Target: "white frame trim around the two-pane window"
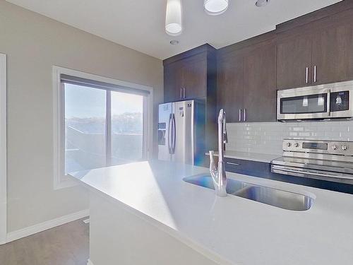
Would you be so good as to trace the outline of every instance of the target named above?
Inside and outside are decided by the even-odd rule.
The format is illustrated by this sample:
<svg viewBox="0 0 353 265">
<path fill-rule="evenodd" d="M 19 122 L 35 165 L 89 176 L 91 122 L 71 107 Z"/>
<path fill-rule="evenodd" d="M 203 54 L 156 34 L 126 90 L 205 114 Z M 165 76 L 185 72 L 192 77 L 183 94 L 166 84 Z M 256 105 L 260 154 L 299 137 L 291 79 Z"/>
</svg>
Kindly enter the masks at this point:
<svg viewBox="0 0 353 265">
<path fill-rule="evenodd" d="M 64 88 L 61 83 L 61 74 L 75 76 L 78 78 L 90 79 L 102 83 L 110 83 L 125 88 L 138 89 L 148 91 L 145 98 L 144 112 L 145 119 L 143 120 L 143 150 L 145 158 L 152 158 L 152 143 L 153 143 L 153 88 L 143 86 L 136 83 L 130 83 L 104 76 L 97 76 L 92 73 L 85 73 L 67 69 L 60 66 L 52 66 L 53 72 L 53 139 L 54 139 L 54 189 L 63 189 L 73 187 L 77 184 L 71 177 L 65 175 L 65 113 L 64 113 Z M 107 93 L 110 95 L 110 93 Z M 109 110 L 107 110 L 107 113 Z M 109 134 L 110 132 L 107 132 Z M 108 142 L 108 141 L 107 141 Z M 107 143 L 109 144 L 109 143 Z"/>
</svg>

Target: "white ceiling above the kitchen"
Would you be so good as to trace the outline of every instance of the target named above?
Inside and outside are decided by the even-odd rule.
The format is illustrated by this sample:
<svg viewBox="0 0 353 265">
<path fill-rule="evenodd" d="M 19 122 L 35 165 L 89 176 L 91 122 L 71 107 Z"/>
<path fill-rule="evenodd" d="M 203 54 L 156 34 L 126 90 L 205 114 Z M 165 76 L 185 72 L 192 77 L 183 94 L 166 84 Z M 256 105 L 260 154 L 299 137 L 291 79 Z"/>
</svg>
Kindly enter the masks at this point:
<svg viewBox="0 0 353 265">
<path fill-rule="evenodd" d="M 220 48 L 268 32 L 275 25 L 340 0 L 270 0 L 258 8 L 256 0 L 229 0 L 228 10 L 208 16 L 203 0 L 182 0 L 184 30 L 170 37 L 164 32 L 167 0 L 8 0 L 73 27 L 166 59 L 198 45 Z M 179 45 L 170 45 L 170 40 Z"/>
</svg>

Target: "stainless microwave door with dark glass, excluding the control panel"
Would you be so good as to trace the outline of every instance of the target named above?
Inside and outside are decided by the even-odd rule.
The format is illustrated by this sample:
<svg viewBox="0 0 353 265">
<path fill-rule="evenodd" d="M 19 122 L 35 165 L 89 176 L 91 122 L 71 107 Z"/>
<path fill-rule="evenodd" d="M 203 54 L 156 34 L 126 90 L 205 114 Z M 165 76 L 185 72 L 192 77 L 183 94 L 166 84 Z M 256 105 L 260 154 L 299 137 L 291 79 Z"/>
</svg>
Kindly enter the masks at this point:
<svg viewBox="0 0 353 265">
<path fill-rule="evenodd" d="M 330 89 L 294 88 L 277 92 L 277 119 L 330 118 Z"/>
</svg>

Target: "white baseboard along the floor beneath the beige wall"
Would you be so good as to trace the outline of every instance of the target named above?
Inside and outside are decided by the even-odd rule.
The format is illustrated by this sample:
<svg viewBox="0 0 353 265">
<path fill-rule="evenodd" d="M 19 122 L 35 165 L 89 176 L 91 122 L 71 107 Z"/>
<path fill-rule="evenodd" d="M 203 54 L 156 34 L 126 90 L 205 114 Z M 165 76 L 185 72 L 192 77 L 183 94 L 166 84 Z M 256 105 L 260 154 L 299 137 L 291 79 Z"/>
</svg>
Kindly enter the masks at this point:
<svg viewBox="0 0 353 265">
<path fill-rule="evenodd" d="M 74 220 L 78 220 L 89 215 L 90 211 L 87 209 L 83 211 L 78 211 L 76 213 L 68 214 L 67 216 L 61 216 L 53 220 L 48 220 L 43 223 L 38 223 L 37 225 L 31 225 L 27 228 L 22 228 L 20 230 L 9 232 L 6 237 L 6 242 L 19 240 L 22 237 L 28 237 L 29 235 L 36 234 L 37 232 L 42 232 L 50 228 L 55 228 L 56 226 L 64 225 L 65 223 L 70 223 Z"/>
</svg>

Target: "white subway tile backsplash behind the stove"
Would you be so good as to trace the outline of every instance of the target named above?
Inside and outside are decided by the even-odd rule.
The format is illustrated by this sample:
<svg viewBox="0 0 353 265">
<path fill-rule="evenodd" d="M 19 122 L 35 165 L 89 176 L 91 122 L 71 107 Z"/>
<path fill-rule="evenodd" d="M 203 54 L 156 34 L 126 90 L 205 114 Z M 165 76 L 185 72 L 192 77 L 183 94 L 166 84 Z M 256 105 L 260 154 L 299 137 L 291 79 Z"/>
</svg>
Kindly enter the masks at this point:
<svg viewBox="0 0 353 265">
<path fill-rule="evenodd" d="M 284 138 L 353 141 L 353 121 L 232 123 L 227 131 L 227 150 L 276 155 Z"/>
</svg>

